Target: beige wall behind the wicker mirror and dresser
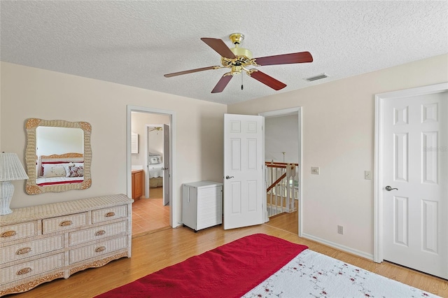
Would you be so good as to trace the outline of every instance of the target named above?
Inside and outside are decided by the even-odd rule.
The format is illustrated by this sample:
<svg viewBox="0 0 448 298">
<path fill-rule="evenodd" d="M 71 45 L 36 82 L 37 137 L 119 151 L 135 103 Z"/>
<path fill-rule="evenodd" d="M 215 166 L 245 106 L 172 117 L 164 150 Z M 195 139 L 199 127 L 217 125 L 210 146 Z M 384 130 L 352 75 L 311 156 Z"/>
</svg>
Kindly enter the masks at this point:
<svg viewBox="0 0 448 298">
<path fill-rule="evenodd" d="M 11 208 L 127 193 L 127 105 L 174 111 L 176 117 L 175 222 L 181 221 L 181 184 L 222 180 L 223 114 L 227 106 L 137 87 L 1 62 L 1 151 L 25 165 L 25 120 L 86 121 L 92 125 L 92 186 L 28 195 L 13 182 Z"/>
</svg>

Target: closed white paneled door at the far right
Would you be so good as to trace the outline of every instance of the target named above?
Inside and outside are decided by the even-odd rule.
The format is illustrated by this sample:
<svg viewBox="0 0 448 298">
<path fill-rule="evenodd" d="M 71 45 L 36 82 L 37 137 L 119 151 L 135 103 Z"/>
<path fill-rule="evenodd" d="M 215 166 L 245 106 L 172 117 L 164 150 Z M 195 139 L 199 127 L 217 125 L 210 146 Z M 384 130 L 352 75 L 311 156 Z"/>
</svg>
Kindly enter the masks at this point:
<svg viewBox="0 0 448 298">
<path fill-rule="evenodd" d="M 448 92 L 383 111 L 384 260 L 448 278 Z"/>
</svg>

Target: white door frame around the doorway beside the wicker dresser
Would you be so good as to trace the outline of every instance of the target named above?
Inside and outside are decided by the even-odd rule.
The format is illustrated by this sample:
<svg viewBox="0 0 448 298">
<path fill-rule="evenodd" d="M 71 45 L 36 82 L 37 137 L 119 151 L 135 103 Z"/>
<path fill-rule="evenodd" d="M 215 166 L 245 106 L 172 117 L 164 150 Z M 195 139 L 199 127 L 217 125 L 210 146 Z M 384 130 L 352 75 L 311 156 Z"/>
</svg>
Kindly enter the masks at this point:
<svg viewBox="0 0 448 298">
<path fill-rule="evenodd" d="M 170 192 L 170 204 L 169 204 L 169 225 L 171 227 L 176 227 L 174 224 L 174 212 L 176 211 L 177 202 L 175 199 L 176 197 L 176 190 L 174 190 L 173 185 L 176 185 L 176 155 L 175 155 L 175 148 L 176 148 L 176 113 L 174 111 L 168 111 L 168 110 L 161 110 L 158 108 L 147 108 L 144 106 L 130 106 L 127 105 L 127 113 L 126 113 L 126 140 L 127 140 L 127 197 L 132 197 L 132 176 L 131 176 L 131 169 L 132 169 L 132 159 L 131 159 L 131 117 L 132 112 L 138 112 L 138 113 L 151 113 L 151 114 L 162 114 L 167 115 L 170 118 L 169 128 L 171 130 L 169 134 L 169 159 L 170 159 L 170 165 L 171 165 L 171 183 L 169 185 L 169 192 Z"/>
</svg>

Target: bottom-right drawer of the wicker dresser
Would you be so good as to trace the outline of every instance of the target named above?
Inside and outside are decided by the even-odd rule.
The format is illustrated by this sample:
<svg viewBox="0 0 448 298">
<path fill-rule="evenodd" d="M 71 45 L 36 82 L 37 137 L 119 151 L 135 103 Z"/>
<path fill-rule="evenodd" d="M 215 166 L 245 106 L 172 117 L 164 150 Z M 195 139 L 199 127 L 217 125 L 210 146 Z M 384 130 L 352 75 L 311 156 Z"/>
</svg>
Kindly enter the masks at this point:
<svg viewBox="0 0 448 298">
<path fill-rule="evenodd" d="M 69 264 L 91 259 L 92 257 L 99 257 L 122 248 L 127 248 L 127 236 L 75 248 L 69 251 Z"/>
</svg>

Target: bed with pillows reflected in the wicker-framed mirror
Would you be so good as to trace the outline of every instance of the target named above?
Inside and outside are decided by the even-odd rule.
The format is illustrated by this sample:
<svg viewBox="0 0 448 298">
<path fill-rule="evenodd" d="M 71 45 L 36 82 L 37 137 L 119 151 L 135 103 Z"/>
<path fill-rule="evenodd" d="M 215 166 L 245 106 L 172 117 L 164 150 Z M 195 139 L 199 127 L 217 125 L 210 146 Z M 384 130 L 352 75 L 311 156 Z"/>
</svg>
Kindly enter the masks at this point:
<svg viewBox="0 0 448 298">
<path fill-rule="evenodd" d="M 84 157 L 82 153 L 40 155 L 36 158 L 36 185 L 83 183 Z"/>
</svg>

